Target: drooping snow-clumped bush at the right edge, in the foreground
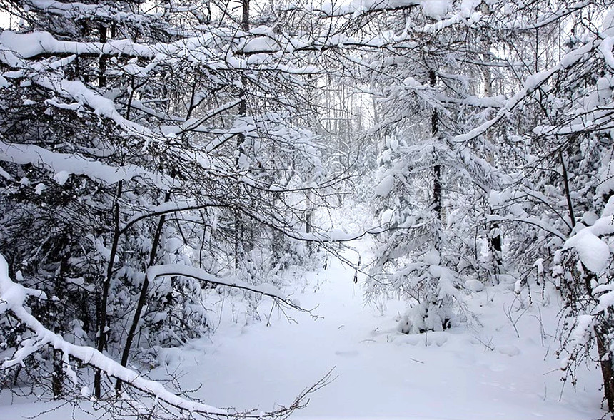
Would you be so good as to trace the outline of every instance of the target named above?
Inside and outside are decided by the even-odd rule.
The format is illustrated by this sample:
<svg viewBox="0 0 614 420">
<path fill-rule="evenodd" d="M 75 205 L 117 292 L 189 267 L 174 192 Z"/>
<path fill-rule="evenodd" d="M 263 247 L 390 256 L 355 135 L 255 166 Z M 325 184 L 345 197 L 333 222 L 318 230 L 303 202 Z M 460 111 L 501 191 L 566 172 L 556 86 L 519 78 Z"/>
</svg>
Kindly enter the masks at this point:
<svg viewBox="0 0 614 420">
<path fill-rule="evenodd" d="M 601 217 L 581 227 L 555 256 L 565 310 L 560 330 L 565 376 L 587 360 L 600 367 L 608 411 L 614 411 L 614 196 Z M 597 353 L 593 352 L 594 347 Z"/>
</svg>

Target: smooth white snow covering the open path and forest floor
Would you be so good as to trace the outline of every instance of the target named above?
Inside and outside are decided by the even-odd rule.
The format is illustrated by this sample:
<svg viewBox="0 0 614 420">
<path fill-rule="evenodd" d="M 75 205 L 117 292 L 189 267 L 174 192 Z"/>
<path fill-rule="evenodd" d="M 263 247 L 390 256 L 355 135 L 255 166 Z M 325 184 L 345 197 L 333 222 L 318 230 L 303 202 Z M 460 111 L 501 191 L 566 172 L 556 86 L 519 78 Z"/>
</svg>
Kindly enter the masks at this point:
<svg viewBox="0 0 614 420">
<path fill-rule="evenodd" d="M 356 258 L 353 252 L 347 257 Z M 292 297 L 310 314 L 258 305 L 260 320 L 231 299 L 210 302 L 216 332 L 183 349 L 162 354 L 166 371 L 207 404 L 236 409 L 273 409 L 290 404 L 304 388 L 334 367 L 331 384 L 317 391 L 291 419 L 598 419 L 599 372 L 581 372 L 562 389 L 554 339 L 560 304 L 522 307 L 512 285 L 487 287 L 468 296 L 472 322 L 446 332 L 404 335 L 396 319 L 406 304 L 391 299 L 365 304 L 362 279 L 329 259 L 326 270 L 290 280 Z M 510 290 L 511 289 L 511 290 Z M 545 296 L 555 296 L 547 293 Z M 526 292 L 523 301 L 528 303 Z M 548 300 L 548 299 L 547 299 Z M 267 317 L 271 314 L 270 325 Z M 481 324 L 481 327 L 478 325 Z M 19 419 L 51 408 L 0 395 L 0 417 Z M 39 417 L 67 419 L 69 407 Z M 89 418 L 84 413 L 76 419 Z"/>
</svg>

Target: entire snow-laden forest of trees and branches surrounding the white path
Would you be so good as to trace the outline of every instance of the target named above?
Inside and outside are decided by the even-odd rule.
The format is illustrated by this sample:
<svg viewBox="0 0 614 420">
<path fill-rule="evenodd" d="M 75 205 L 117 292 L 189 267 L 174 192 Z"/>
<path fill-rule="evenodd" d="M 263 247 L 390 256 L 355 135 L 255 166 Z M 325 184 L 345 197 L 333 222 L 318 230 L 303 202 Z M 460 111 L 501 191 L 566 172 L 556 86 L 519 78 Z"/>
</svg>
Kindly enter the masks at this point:
<svg viewBox="0 0 614 420">
<path fill-rule="evenodd" d="M 244 414 L 141 375 L 215 342 L 211 294 L 291 318 L 340 258 L 405 302 L 398 334 L 481 324 L 468 296 L 500 285 L 558 299 L 561 374 L 597 366 L 614 415 L 611 1 L 0 0 L 0 24 L 1 390 L 287 416 L 329 378 Z"/>
</svg>

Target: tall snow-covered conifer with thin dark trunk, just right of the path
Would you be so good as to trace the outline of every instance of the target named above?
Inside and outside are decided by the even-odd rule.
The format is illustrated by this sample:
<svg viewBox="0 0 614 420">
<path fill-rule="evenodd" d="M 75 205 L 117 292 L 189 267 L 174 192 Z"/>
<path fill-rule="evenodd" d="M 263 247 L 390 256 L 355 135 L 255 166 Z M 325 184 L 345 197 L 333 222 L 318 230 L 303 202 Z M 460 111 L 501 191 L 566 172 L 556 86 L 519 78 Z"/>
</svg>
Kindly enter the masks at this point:
<svg viewBox="0 0 614 420">
<path fill-rule="evenodd" d="M 345 22 L 331 25 L 330 38 L 346 48 L 343 71 L 355 69 L 357 90 L 375 98 L 377 123 L 368 133 L 383 142 L 375 194 L 388 233 L 378 238 L 372 273 L 379 277 L 368 294 L 408 297 L 405 332 L 446 329 L 462 319 L 463 277 L 490 278 L 498 265 L 481 256 L 498 175 L 480 157 L 482 143 L 451 141 L 502 105 L 482 88 L 483 12 L 465 1 L 355 6 L 325 4 L 321 13 Z"/>
</svg>

